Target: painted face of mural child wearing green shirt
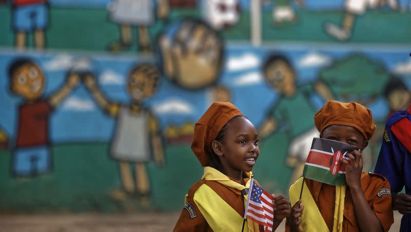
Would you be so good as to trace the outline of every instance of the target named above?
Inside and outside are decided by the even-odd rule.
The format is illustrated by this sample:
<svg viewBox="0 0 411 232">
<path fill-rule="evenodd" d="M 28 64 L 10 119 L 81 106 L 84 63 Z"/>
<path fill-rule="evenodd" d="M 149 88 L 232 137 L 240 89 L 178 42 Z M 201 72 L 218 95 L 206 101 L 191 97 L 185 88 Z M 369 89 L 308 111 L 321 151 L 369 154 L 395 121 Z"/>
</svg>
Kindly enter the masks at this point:
<svg viewBox="0 0 411 232">
<path fill-rule="evenodd" d="M 295 75 L 291 67 L 285 61 L 275 61 L 264 71 L 266 81 L 275 91 L 286 96 L 295 93 Z"/>
</svg>

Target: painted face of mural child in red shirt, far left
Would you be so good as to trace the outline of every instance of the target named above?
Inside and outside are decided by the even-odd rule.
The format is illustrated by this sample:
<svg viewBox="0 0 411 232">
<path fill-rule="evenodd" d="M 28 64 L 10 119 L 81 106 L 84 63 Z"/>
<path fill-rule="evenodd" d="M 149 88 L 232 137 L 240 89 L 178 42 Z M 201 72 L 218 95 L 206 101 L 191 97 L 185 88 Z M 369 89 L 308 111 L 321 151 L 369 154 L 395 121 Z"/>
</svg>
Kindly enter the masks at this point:
<svg viewBox="0 0 411 232">
<path fill-rule="evenodd" d="M 11 79 L 11 90 L 27 100 L 36 100 L 43 94 L 45 79 L 40 68 L 26 63 L 16 69 Z"/>
</svg>

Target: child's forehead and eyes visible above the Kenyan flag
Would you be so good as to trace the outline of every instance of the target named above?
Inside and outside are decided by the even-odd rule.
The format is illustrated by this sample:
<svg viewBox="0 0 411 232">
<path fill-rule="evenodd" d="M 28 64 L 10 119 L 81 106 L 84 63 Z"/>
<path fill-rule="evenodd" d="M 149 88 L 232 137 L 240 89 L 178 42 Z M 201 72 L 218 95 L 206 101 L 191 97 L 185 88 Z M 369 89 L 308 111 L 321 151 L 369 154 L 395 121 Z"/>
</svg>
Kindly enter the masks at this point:
<svg viewBox="0 0 411 232">
<path fill-rule="evenodd" d="M 331 125 L 323 130 L 320 138 L 343 142 L 362 149 L 368 145 L 363 134 L 351 126 Z"/>
</svg>

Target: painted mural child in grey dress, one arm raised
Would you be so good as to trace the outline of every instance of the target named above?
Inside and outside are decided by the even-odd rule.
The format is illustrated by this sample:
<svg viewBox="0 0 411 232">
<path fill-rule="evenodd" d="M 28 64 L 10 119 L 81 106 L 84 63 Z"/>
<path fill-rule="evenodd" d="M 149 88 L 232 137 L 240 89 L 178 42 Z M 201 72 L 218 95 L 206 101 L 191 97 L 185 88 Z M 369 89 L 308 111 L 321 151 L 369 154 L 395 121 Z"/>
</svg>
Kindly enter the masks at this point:
<svg viewBox="0 0 411 232">
<path fill-rule="evenodd" d="M 137 194 L 142 198 L 150 196 L 150 182 L 145 163 L 152 160 L 164 164 L 163 146 L 159 124 L 150 110 L 142 106 L 143 101 L 156 90 L 159 72 L 149 64 L 134 67 L 127 78 L 127 92 L 132 98 L 130 105 L 110 102 L 98 88 L 92 75 L 86 75 L 84 83 L 98 105 L 117 120 L 114 138 L 111 141 L 110 156 L 119 161 L 120 175 L 126 194 Z M 130 163 L 135 164 L 134 181 Z"/>
</svg>

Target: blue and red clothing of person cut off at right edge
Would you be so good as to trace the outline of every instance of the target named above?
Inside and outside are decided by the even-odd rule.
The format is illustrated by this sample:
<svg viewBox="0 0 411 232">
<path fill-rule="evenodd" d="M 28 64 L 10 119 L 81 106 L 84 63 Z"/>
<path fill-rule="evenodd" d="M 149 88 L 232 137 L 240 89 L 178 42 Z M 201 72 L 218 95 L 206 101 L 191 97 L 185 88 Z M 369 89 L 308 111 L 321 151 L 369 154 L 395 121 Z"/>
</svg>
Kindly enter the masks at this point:
<svg viewBox="0 0 411 232">
<path fill-rule="evenodd" d="M 391 191 L 411 195 L 411 106 L 393 114 L 385 125 L 374 172 L 385 176 Z M 411 215 L 404 215 L 400 232 L 411 231 Z"/>
</svg>

